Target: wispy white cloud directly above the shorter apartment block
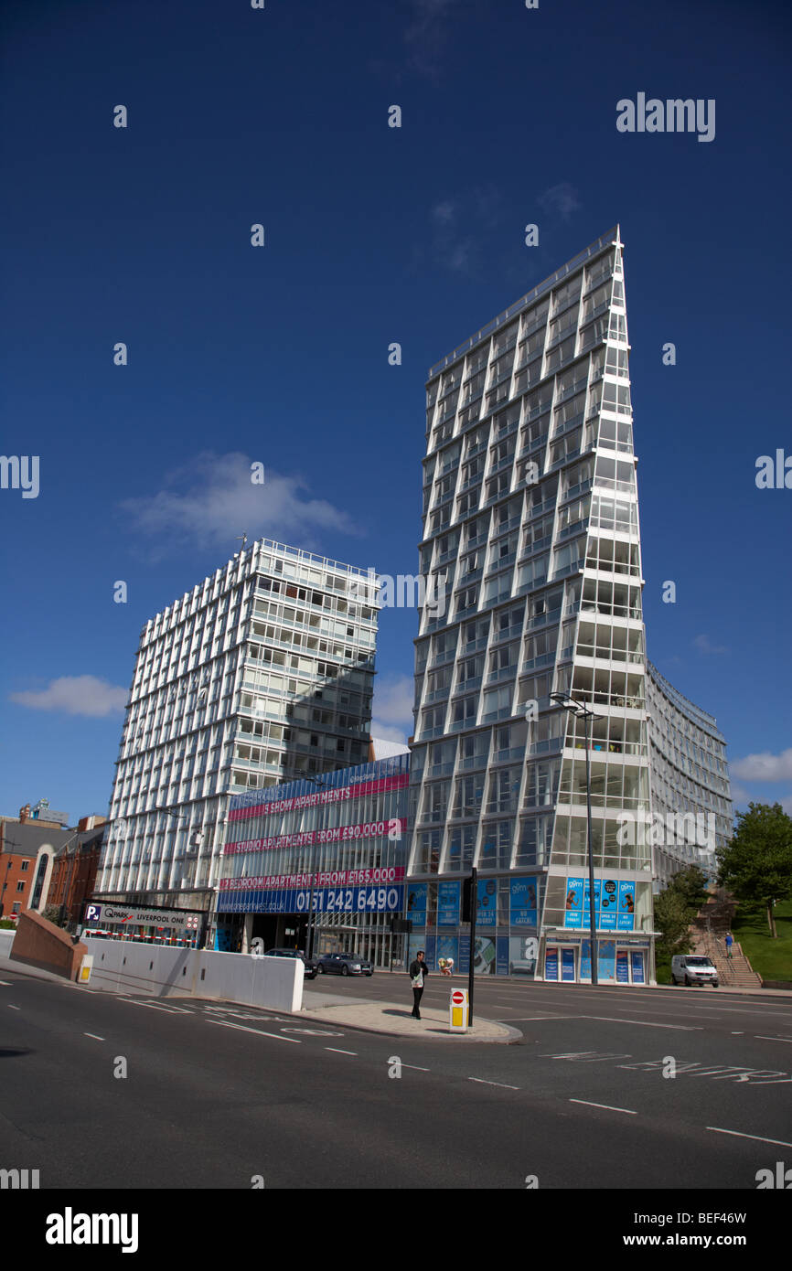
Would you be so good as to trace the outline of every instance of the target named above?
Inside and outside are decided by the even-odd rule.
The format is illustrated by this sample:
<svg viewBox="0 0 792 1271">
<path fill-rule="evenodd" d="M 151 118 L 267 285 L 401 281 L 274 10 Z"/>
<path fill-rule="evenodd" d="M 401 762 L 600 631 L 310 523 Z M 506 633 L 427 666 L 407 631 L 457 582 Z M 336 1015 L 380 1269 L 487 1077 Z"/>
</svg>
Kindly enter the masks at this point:
<svg viewBox="0 0 792 1271">
<path fill-rule="evenodd" d="M 301 497 L 308 491 L 301 477 L 283 477 L 264 464 L 264 483 L 254 486 L 252 463 L 239 452 L 203 451 L 170 473 L 165 489 L 127 498 L 121 507 L 137 530 L 160 539 L 159 557 L 169 545 L 187 541 L 198 547 L 225 543 L 230 549 L 238 534 L 247 534 L 248 541 L 297 538 L 301 547 L 310 547 L 314 530 L 357 533 L 346 512 L 325 500 Z"/>
</svg>

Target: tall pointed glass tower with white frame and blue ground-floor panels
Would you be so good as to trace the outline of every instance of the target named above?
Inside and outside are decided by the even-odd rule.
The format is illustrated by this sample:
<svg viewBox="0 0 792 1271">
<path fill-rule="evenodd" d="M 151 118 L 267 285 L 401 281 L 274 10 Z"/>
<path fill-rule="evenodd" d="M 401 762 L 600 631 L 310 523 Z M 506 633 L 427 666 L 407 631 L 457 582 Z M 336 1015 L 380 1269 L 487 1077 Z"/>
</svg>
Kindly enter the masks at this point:
<svg viewBox="0 0 792 1271">
<path fill-rule="evenodd" d="M 447 943 L 453 883 L 477 866 L 477 970 L 591 974 L 586 735 L 549 697 L 566 691 L 599 717 L 600 979 L 651 976 L 628 351 L 615 228 L 428 375 L 421 569 L 445 574 L 445 609 L 421 610 L 416 641 L 409 874 L 425 938 L 436 923 Z"/>
</svg>

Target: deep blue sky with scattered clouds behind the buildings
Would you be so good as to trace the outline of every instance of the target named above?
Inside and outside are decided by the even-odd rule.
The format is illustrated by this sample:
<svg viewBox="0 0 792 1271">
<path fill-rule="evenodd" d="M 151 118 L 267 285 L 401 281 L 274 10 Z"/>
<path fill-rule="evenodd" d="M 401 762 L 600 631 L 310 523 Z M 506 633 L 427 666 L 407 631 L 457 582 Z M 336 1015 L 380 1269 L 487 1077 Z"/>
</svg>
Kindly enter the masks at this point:
<svg viewBox="0 0 792 1271">
<path fill-rule="evenodd" d="M 617 222 L 648 653 L 717 716 L 737 806 L 792 810 L 792 491 L 755 486 L 792 454 L 784 5 L 9 0 L 1 22 L 3 451 L 41 475 L 0 491 L 0 813 L 106 812 L 140 628 L 236 535 L 416 572 L 428 366 Z M 714 99 L 714 140 L 619 132 L 641 92 Z M 414 634 L 383 614 L 386 736 Z"/>
</svg>

